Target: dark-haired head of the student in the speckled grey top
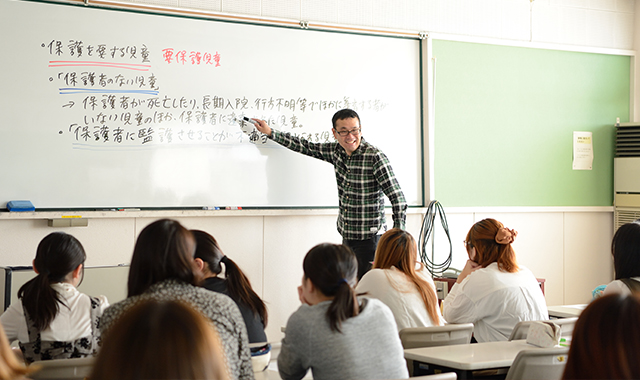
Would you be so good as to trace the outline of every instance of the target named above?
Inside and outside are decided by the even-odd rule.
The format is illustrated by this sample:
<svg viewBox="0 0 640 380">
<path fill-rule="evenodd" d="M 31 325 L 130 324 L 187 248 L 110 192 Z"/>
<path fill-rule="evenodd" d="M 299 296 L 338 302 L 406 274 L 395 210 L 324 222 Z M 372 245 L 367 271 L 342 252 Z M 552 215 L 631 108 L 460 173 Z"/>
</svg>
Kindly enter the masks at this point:
<svg viewBox="0 0 640 380">
<path fill-rule="evenodd" d="M 194 251 L 193 235 L 177 221 L 161 219 L 146 226 L 133 250 L 128 297 L 142 294 L 151 285 L 168 279 L 197 285 L 200 276 Z"/>
</svg>

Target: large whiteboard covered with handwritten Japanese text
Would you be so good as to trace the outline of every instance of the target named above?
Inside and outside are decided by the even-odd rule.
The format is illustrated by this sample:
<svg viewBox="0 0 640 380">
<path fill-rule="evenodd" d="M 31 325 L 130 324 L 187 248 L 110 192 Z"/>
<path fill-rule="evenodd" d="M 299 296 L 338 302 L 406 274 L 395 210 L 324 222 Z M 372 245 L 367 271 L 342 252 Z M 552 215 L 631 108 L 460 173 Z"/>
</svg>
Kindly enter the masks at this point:
<svg viewBox="0 0 640 380">
<path fill-rule="evenodd" d="M 334 141 L 341 108 L 423 203 L 417 39 L 11 0 L 0 33 L 0 204 L 337 206 L 331 164 L 237 117 Z"/>
</svg>

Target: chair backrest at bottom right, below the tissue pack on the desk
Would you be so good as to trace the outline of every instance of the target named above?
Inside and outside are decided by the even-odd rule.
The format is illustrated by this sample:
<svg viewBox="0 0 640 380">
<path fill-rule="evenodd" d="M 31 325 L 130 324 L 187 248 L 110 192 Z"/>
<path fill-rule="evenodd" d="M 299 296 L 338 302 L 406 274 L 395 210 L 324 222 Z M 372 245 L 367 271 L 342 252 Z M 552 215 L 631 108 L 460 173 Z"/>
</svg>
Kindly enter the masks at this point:
<svg viewBox="0 0 640 380">
<path fill-rule="evenodd" d="M 568 347 L 520 351 L 505 380 L 559 380 L 567 364 L 568 354 Z"/>
</svg>

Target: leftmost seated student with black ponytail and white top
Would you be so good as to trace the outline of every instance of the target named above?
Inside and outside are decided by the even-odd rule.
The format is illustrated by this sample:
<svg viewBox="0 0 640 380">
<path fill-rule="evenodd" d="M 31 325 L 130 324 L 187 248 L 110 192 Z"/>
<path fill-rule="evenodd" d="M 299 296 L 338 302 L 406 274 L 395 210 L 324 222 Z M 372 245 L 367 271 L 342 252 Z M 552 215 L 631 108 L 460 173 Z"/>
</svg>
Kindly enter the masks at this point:
<svg viewBox="0 0 640 380">
<path fill-rule="evenodd" d="M 21 302 L 0 317 L 10 342 L 19 340 L 27 363 L 79 358 L 97 353 L 100 316 L 106 297 L 80 293 L 86 254 L 75 237 L 64 232 L 47 235 L 36 251 L 38 274 L 18 290 Z"/>
</svg>

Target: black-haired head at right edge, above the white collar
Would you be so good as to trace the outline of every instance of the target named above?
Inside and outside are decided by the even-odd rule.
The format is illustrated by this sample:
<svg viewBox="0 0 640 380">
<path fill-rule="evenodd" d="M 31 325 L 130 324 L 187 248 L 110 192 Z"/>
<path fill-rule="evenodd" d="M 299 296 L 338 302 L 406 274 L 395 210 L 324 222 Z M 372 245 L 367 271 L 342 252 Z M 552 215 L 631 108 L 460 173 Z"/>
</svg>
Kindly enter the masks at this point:
<svg viewBox="0 0 640 380">
<path fill-rule="evenodd" d="M 640 223 L 627 223 L 616 231 L 611 242 L 616 280 L 640 277 Z"/>
</svg>

